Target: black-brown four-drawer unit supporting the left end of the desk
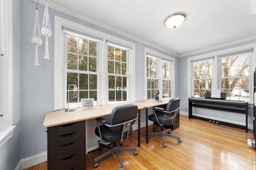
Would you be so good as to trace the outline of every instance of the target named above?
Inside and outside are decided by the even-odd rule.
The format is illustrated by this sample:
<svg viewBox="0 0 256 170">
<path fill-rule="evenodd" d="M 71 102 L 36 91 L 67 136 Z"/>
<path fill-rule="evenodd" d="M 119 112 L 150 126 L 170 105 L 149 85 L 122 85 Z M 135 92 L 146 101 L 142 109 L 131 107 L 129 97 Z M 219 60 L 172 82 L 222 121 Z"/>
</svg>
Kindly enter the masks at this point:
<svg viewBox="0 0 256 170">
<path fill-rule="evenodd" d="M 48 170 L 85 169 L 85 121 L 48 127 L 47 132 Z"/>
</svg>

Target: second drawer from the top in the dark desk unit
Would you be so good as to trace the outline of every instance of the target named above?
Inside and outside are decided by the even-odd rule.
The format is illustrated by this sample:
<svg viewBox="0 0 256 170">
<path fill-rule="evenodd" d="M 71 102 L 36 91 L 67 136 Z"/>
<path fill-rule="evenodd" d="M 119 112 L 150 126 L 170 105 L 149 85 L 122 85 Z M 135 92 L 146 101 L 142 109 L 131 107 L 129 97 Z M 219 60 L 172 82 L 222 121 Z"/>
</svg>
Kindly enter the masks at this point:
<svg viewBox="0 0 256 170">
<path fill-rule="evenodd" d="M 71 143 L 74 141 L 78 141 L 80 139 L 84 139 L 85 131 L 78 131 L 74 133 L 69 133 L 66 135 L 52 137 L 49 139 L 49 148 L 58 147 L 60 145 L 64 145 L 67 143 Z"/>
</svg>

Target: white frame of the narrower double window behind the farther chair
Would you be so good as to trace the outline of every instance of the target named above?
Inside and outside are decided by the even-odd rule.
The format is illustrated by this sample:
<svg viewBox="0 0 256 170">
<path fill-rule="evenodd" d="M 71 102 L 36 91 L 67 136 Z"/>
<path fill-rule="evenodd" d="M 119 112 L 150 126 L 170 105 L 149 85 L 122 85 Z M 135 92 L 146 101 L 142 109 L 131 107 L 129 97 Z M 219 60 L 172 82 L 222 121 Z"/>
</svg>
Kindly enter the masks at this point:
<svg viewBox="0 0 256 170">
<path fill-rule="evenodd" d="M 163 81 L 163 78 L 162 78 L 162 61 L 167 61 L 167 62 L 170 62 L 172 63 L 172 66 L 170 68 L 170 80 L 171 80 L 171 83 L 170 83 L 170 86 L 171 86 L 171 97 L 170 98 L 174 98 L 175 96 L 175 80 L 174 80 L 174 75 L 175 75 L 175 59 L 173 57 L 170 57 L 170 56 L 167 56 L 167 55 L 164 55 L 162 53 L 158 53 L 154 50 L 151 50 L 151 49 L 148 49 L 148 48 L 145 48 L 144 49 L 144 99 L 145 100 L 148 100 L 148 86 L 147 86 L 147 75 L 146 75 L 146 67 L 147 67 L 147 55 L 151 56 L 151 57 L 154 57 L 157 59 L 157 78 L 153 78 L 153 79 L 157 79 L 158 80 L 158 90 L 159 90 L 159 99 L 162 99 L 163 96 L 163 90 L 162 90 L 162 81 Z"/>
</svg>

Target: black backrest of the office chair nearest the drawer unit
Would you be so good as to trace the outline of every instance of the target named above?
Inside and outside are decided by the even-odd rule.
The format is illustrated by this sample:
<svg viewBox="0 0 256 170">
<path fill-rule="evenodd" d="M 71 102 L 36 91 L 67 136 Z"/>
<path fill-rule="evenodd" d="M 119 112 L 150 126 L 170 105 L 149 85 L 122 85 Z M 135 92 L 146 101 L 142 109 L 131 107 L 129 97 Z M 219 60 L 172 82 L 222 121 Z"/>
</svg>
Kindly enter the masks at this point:
<svg viewBox="0 0 256 170">
<path fill-rule="evenodd" d="M 138 106 L 135 104 L 126 104 L 126 105 L 117 106 L 112 110 L 108 124 L 116 125 L 118 123 L 123 123 L 129 120 L 132 120 L 137 117 L 137 111 L 138 111 Z M 135 121 L 133 121 L 131 125 L 134 122 Z M 111 127 L 110 129 L 112 131 L 121 131 L 122 125 Z"/>
</svg>

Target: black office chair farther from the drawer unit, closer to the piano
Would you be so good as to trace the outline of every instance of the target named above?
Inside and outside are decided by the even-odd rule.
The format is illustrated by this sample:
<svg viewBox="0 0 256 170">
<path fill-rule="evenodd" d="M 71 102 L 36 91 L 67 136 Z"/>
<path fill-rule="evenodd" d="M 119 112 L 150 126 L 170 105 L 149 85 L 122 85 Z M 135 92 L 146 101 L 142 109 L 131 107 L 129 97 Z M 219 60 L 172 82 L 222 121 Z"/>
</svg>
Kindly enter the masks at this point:
<svg viewBox="0 0 256 170">
<path fill-rule="evenodd" d="M 166 147 L 164 143 L 164 136 L 173 137 L 178 139 L 178 142 L 181 143 L 180 137 L 171 135 L 171 129 L 167 129 L 164 131 L 164 125 L 172 125 L 175 122 L 175 118 L 180 110 L 180 98 L 173 98 L 171 99 L 166 109 L 160 107 L 153 107 L 154 114 L 148 115 L 148 119 L 154 121 L 154 123 L 158 123 L 161 127 L 161 131 L 153 127 L 154 133 L 148 133 L 148 139 L 150 136 L 154 135 L 161 135 L 162 136 L 162 143 L 163 147 Z M 157 132 L 156 132 L 157 131 Z"/>
</svg>

